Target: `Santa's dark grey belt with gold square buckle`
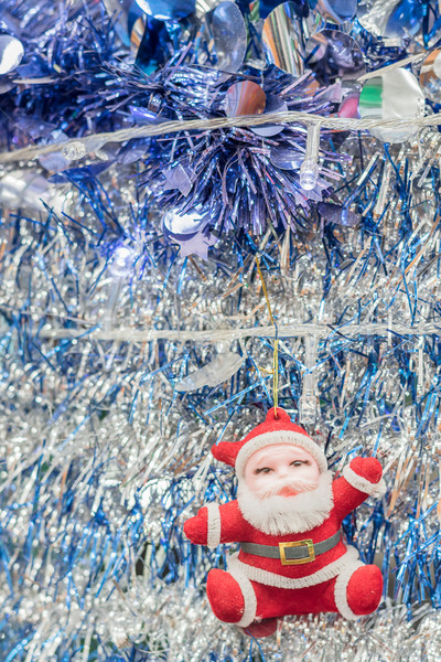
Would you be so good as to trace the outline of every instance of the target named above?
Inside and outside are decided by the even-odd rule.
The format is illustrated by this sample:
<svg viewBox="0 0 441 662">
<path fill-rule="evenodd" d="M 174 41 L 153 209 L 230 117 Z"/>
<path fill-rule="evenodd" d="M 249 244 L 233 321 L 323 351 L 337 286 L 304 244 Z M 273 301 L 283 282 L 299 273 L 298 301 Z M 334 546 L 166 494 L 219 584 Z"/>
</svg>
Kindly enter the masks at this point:
<svg viewBox="0 0 441 662">
<path fill-rule="evenodd" d="M 240 543 L 240 548 L 246 554 L 277 558 L 282 565 L 299 565 L 315 560 L 315 556 L 329 552 L 340 543 L 341 532 L 334 533 L 330 538 L 313 543 L 312 540 L 294 541 L 293 543 L 279 543 L 275 545 L 258 545 L 256 543 Z"/>
</svg>

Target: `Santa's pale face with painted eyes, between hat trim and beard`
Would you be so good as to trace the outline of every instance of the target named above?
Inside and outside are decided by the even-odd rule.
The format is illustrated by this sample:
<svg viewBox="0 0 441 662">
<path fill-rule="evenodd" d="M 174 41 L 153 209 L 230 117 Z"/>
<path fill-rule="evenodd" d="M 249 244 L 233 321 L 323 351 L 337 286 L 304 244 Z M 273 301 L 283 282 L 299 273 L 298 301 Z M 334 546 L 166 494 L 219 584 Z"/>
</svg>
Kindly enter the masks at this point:
<svg viewBox="0 0 441 662">
<path fill-rule="evenodd" d="M 295 496 L 315 490 L 320 470 L 314 458 L 300 446 L 276 444 L 251 455 L 245 482 L 257 499 Z"/>
</svg>

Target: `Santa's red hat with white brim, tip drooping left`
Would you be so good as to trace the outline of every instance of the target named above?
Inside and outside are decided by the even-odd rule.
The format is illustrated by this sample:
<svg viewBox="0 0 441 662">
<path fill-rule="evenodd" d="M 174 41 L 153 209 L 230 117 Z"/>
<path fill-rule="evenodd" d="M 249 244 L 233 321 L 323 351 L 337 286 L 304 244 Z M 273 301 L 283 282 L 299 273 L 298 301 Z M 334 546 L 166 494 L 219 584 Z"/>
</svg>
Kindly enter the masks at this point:
<svg viewBox="0 0 441 662">
<path fill-rule="evenodd" d="M 213 446 L 212 453 L 216 460 L 230 465 L 236 469 L 236 476 L 244 478 L 245 466 L 251 455 L 275 444 L 291 444 L 304 448 L 319 465 L 321 473 L 327 471 L 326 456 L 323 450 L 299 425 L 291 423 L 284 409 L 270 409 L 265 423 L 258 425 L 241 441 L 220 441 Z"/>
</svg>

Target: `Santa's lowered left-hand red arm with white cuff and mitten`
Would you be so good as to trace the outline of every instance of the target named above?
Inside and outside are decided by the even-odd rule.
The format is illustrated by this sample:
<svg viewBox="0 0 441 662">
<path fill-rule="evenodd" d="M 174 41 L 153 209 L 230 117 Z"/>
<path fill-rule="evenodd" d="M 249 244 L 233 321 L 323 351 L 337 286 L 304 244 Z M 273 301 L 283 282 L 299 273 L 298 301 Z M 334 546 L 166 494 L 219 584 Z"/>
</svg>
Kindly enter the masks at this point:
<svg viewBox="0 0 441 662">
<path fill-rule="evenodd" d="M 184 533 L 192 543 L 217 547 L 220 543 L 240 541 L 243 520 L 237 501 L 218 505 L 208 503 L 201 508 L 197 515 L 184 524 Z"/>
</svg>

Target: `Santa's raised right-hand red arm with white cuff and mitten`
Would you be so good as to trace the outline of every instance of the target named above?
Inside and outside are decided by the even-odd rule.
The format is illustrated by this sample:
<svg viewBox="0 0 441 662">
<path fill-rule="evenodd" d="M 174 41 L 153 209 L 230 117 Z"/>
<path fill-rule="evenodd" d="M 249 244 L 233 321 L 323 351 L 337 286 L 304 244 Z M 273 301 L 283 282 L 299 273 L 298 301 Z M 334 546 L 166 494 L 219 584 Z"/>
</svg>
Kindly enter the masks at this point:
<svg viewBox="0 0 441 662">
<path fill-rule="evenodd" d="M 381 476 L 383 467 L 376 458 L 354 458 L 332 484 L 337 516 L 344 520 L 368 496 L 383 496 L 386 484 Z"/>
</svg>

